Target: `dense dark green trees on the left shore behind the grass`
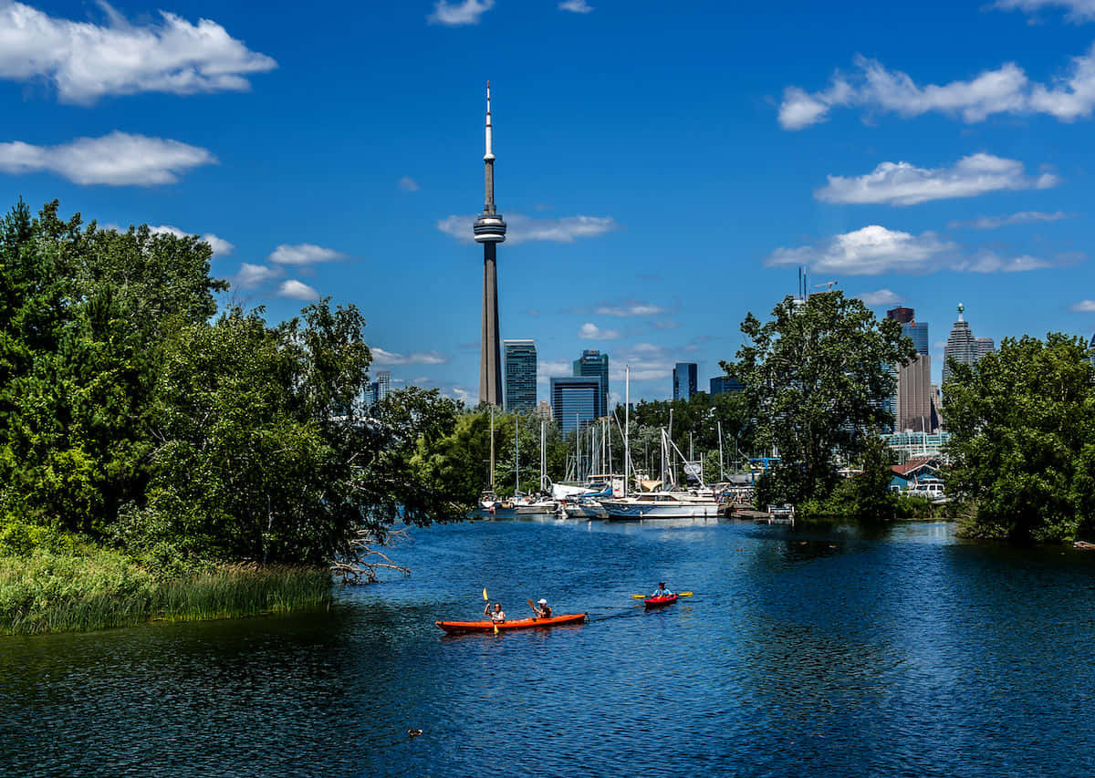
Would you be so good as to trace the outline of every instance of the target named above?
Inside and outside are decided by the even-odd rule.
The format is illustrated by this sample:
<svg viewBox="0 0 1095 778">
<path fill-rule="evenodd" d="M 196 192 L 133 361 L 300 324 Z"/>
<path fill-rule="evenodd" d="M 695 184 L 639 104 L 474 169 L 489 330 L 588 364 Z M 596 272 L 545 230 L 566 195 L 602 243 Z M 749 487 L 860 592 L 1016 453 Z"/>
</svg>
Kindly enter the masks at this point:
<svg viewBox="0 0 1095 778">
<path fill-rule="evenodd" d="M 56 201 L 4 217 L 0 546 L 77 535 L 155 566 L 322 565 L 360 532 L 461 515 L 475 490 L 443 455 L 459 405 L 415 388 L 362 407 L 355 306 L 273 326 L 218 312 L 210 256 L 62 220 Z"/>
</svg>

